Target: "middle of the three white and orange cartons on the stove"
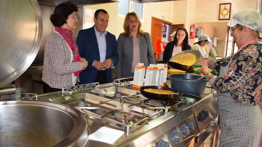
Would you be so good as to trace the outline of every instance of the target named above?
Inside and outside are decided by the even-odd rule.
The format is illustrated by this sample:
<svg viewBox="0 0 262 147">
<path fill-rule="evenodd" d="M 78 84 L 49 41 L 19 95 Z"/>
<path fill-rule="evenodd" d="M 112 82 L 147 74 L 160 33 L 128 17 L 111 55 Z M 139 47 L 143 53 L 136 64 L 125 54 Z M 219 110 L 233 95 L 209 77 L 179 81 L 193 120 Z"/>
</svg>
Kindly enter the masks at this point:
<svg viewBox="0 0 262 147">
<path fill-rule="evenodd" d="M 150 64 L 146 68 L 146 78 L 145 78 L 145 83 L 144 86 L 148 85 L 155 85 L 156 77 L 157 77 L 157 66 L 155 64 Z"/>
</svg>

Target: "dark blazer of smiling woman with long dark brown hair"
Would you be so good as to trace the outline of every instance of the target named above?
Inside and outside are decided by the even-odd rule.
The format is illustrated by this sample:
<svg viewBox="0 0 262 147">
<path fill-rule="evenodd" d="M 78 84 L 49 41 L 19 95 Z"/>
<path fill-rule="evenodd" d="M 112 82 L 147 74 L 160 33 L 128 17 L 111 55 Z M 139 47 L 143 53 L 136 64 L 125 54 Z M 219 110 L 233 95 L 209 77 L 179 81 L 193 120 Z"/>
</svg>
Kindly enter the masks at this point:
<svg viewBox="0 0 262 147">
<path fill-rule="evenodd" d="M 165 48 L 164 53 L 163 53 L 164 63 L 166 63 L 166 61 L 169 61 L 169 59 L 172 57 L 174 45 L 175 45 L 174 41 L 167 43 L 166 48 Z M 182 51 L 185 51 L 185 50 L 191 50 L 191 46 L 190 45 L 182 46 Z"/>
</svg>

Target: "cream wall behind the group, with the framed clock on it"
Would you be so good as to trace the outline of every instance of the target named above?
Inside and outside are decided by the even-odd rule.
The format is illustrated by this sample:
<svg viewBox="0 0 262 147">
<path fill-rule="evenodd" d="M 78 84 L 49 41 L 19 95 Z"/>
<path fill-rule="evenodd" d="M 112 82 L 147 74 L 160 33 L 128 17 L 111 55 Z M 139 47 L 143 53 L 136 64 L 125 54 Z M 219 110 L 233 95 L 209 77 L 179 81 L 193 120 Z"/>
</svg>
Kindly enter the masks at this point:
<svg viewBox="0 0 262 147">
<path fill-rule="evenodd" d="M 224 22 L 226 24 L 229 20 L 218 20 L 219 4 L 221 3 L 232 3 L 231 18 L 239 10 L 245 8 L 255 9 L 256 7 L 256 0 L 181 0 L 144 3 L 142 29 L 151 33 L 152 17 L 162 19 L 162 16 L 164 16 L 164 20 L 173 24 L 185 24 L 185 28 L 188 32 L 190 32 L 190 25 L 194 23 L 202 23 L 202 25 L 204 25 L 204 23 L 209 23 L 209 25 L 213 25 L 215 28 L 213 31 L 214 37 L 221 37 L 221 39 L 223 39 L 223 41 L 218 43 L 218 46 L 215 47 L 218 55 L 223 56 L 225 52 L 225 40 L 227 39 L 225 38 L 227 26 L 219 23 Z M 114 34 L 116 38 L 124 31 L 124 18 L 118 16 L 117 2 L 89 5 L 84 8 L 92 9 L 94 10 L 93 12 L 97 9 L 107 10 L 110 16 L 107 31 Z M 86 19 L 90 19 L 90 17 Z M 206 26 L 206 30 L 203 33 L 210 33 L 207 28 Z M 212 36 L 212 34 L 210 35 Z M 189 39 L 189 45 L 193 45 L 195 41 L 196 39 Z M 211 46 L 208 46 L 207 49 L 209 50 L 210 47 Z"/>
</svg>

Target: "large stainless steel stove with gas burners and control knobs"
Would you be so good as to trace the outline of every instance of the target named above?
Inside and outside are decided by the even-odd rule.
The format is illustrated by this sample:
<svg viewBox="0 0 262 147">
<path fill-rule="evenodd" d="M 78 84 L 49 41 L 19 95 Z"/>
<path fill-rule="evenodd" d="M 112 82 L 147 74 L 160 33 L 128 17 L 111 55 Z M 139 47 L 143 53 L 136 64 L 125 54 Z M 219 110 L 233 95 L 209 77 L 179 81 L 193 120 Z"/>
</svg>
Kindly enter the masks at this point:
<svg viewBox="0 0 262 147">
<path fill-rule="evenodd" d="M 216 126 L 216 91 L 210 88 L 201 100 L 181 97 L 161 102 L 143 97 L 131 87 L 132 81 L 90 85 L 66 88 L 62 95 L 42 99 L 71 105 L 85 114 L 88 135 L 101 127 L 124 131 L 113 144 L 88 137 L 86 146 L 201 146 L 211 134 L 206 130 Z M 119 118 L 120 113 L 124 114 Z"/>
</svg>

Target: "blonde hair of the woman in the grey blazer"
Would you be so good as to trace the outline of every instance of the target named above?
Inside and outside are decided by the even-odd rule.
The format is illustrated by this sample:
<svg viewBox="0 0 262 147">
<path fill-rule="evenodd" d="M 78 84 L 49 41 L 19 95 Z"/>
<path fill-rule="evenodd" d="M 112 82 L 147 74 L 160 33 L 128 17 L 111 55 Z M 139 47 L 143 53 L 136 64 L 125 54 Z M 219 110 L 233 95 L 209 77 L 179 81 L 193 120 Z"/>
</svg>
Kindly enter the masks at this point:
<svg viewBox="0 0 262 147">
<path fill-rule="evenodd" d="M 138 15 L 135 13 L 135 12 L 128 12 L 127 15 L 126 15 L 126 18 L 124 20 L 124 25 L 123 25 L 123 28 L 124 28 L 124 33 L 122 34 L 123 36 L 126 36 L 126 38 L 129 38 L 129 29 L 128 29 L 128 23 L 129 23 L 129 16 L 130 15 L 133 15 L 137 18 L 138 20 L 138 33 L 143 36 L 145 34 L 145 32 L 143 30 L 141 30 L 141 21 L 138 17 Z M 138 34 L 137 34 L 137 37 L 138 37 Z"/>
</svg>

